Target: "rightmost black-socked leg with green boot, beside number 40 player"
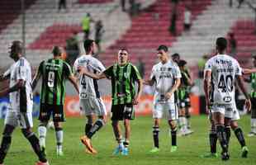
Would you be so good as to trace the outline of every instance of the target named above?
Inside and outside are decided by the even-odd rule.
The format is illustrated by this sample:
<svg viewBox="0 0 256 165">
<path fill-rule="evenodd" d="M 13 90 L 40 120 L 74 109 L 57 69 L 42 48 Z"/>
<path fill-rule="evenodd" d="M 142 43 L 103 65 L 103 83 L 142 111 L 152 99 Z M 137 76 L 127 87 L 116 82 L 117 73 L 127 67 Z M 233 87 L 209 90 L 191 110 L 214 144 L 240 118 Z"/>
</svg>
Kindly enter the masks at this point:
<svg viewBox="0 0 256 165">
<path fill-rule="evenodd" d="M 248 148 L 245 144 L 243 130 L 239 127 L 237 120 L 232 120 L 231 121 L 231 128 L 234 131 L 235 136 L 239 141 L 239 144 L 241 145 L 241 148 L 242 148 L 241 156 L 242 156 L 242 158 L 247 158 L 247 154 L 248 154 L 249 150 L 248 150 Z"/>
</svg>

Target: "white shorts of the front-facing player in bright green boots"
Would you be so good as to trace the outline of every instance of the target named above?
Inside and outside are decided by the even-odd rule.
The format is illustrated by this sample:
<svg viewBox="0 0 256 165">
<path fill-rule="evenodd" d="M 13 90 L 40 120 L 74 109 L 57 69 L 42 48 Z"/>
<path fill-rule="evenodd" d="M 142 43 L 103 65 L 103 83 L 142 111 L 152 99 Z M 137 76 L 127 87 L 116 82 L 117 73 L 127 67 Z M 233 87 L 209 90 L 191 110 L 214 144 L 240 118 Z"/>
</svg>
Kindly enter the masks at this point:
<svg viewBox="0 0 256 165">
<path fill-rule="evenodd" d="M 161 119 L 165 115 L 168 120 L 178 120 L 178 106 L 176 103 L 165 102 L 155 103 L 153 110 L 153 118 Z"/>
</svg>

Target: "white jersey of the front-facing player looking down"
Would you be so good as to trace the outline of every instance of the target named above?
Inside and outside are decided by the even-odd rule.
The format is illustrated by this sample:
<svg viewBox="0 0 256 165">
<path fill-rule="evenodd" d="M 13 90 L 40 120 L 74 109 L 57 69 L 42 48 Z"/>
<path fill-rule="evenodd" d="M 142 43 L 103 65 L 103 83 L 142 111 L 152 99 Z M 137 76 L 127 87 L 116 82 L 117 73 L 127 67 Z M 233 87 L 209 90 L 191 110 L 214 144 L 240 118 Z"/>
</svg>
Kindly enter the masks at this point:
<svg viewBox="0 0 256 165">
<path fill-rule="evenodd" d="M 155 64 L 152 68 L 150 79 L 155 81 L 154 103 L 175 102 L 173 96 L 166 100 L 165 94 L 170 92 L 175 83 L 175 78 L 181 78 L 181 72 L 173 61 L 169 60 L 166 64 Z"/>
</svg>

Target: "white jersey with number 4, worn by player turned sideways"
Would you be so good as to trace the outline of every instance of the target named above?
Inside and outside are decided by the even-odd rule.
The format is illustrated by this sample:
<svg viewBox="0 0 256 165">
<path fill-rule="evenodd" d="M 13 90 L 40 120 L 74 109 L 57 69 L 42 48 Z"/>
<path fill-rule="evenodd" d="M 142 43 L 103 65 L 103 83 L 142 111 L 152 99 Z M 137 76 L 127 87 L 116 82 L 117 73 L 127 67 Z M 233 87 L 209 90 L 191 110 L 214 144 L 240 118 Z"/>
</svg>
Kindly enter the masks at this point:
<svg viewBox="0 0 256 165">
<path fill-rule="evenodd" d="M 103 64 L 90 54 L 83 54 L 75 60 L 73 68 L 76 73 L 78 73 L 79 66 L 86 67 L 92 73 L 102 73 L 105 70 Z M 79 98 L 87 99 L 88 97 L 100 97 L 97 80 L 89 78 L 86 75 L 79 76 Z"/>
</svg>

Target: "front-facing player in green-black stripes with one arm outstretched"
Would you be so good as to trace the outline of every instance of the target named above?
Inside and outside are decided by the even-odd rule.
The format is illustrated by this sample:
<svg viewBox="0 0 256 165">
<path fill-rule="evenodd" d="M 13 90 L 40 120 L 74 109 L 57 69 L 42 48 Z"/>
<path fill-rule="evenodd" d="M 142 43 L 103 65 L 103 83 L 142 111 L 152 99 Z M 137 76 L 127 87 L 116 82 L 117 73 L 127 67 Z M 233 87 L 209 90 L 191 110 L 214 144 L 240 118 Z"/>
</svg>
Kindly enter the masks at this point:
<svg viewBox="0 0 256 165">
<path fill-rule="evenodd" d="M 104 72 L 95 74 L 81 68 L 82 73 L 90 78 L 111 79 L 111 120 L 112 127 L 118 146 L 114 150 L 114 155 L 121 153 L 128 155 L 130 144 L 130 120 L 135 118 L 134 105 L 138 104 L 142 92 L 143 81 L 140 73 L 133 64 L 128 61 L 129 52 L 126 48 L 118 51 L 118 62 L 107 68 Z M 135 91 L 135 82 L 138 83 L 138 91 Z M 119 120 L 124 120 L 125 140 L 122 140 Z"/>
</svg>

